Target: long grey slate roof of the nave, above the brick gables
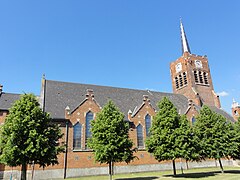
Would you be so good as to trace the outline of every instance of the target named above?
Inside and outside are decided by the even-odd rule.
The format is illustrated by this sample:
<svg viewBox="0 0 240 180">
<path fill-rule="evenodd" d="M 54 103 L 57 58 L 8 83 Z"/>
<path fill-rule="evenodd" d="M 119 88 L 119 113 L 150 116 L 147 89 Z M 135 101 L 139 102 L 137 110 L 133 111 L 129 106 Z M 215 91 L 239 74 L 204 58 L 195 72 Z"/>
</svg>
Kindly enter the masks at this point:
<svg viewBox="0 0 240 180">
<path fill-rule="evenodd" d="M 46 80 L 45 111 L 49 112 L 53 118 L 64 118 L 65 108 L 69 106 L 71 111 L 74 110 L 85 99 L 87 89 L 93 90 L 94 98 L 101 107 L 109 99 L 113 100 L 125 117 L 129 110 L 133 112 L 141 106 L 143 95 L 148 95 L 150 103 L 156 110 L 157 103 L 165 96 L 182 114 L 188 108 L 188 99 L 179 94 Z"/>
</svg>

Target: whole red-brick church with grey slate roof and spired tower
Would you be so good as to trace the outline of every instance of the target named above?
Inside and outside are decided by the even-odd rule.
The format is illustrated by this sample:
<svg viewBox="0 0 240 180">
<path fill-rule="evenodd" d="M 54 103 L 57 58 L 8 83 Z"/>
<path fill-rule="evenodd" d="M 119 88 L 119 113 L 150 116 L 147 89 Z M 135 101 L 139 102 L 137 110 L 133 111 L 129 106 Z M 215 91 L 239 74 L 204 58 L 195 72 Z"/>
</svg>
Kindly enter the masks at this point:
<svg viewBox="0 0 240 180">
<path fill-rule="evenodd" d="M 106 102 L 111 99 L 125 114 L 129 123 L 129 137 L 138 148 L 138 159 L 129 165 L 116 164 L 116 172 L 140 172 L 159 170 L 168 167 L 168 162 L 159 163 L 145 150 L 145 139 L 156 114 L 157 103 L 168 97 L 180 114 L 185 114 L 190 123 L 203 105 L 222 114 L 228 120 L 233 117 L 221 109 L 219 97 L 214 92 L 213 82 L 206 56 L 191 53 L 186 34 L 180 23 L 182 38 L 182 56 L 170 64 L 173 93 L 135 90 L 107 86 L 60 82 L 42 78 L 39 101 L 44 111 L 50 113 L 53 120 L 60 124 L 64 133 L 66 151 L 59 155 L 59 164 L 37 169 L 35 175 L 48 178 L 72 177 L 90 174 L 107 174 L 107 166 L 94 162 L 92 150 L 86 146 L 90 134 L 90 122 Z M 8 113 L 12 103 L 19 99 L 19 94 L 3 92 L 0 87 L 0 123 Z M 171 165 L 169 165 L 171 167 Z M 29 166 L 29 169 L 31 167 Z M 10 168 L 0 166 L 3 177 L 7 177 Z M 14 172 L 18 168 L 14 169 Z M 5 174 L 4 174 L 5 173 Z M 17 175 L 16 175 L 17 176 Z"/>
</svg>

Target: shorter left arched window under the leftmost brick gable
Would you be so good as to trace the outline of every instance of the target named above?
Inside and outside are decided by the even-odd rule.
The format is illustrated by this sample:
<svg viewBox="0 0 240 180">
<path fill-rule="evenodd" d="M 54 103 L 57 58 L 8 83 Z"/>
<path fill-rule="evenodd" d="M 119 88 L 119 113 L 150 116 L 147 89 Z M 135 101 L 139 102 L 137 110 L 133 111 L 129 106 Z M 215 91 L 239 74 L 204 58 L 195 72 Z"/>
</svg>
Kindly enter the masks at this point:
<svg viewBox="0 0 240 180">
<path fill-rule="evenodd" d="M 73 126 L 73 149 L 82 148 L 82 125 L 78 122 Z"/>
</svg>

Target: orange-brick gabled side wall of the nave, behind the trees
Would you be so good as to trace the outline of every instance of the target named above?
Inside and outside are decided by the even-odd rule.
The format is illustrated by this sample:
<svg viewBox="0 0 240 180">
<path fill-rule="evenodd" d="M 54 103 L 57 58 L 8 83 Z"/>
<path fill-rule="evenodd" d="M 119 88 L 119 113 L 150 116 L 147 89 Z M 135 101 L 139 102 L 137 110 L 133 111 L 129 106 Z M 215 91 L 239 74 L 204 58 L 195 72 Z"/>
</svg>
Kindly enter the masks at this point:
<svg viewBox="0 0 240 180">
<path fill-rule="evenodd" d="M 92 112 L 94 118 L 96 114 L 101 110 L 101 107 L 94 99 L 94 94 L 91 90 L 88 91 L 85 100 L 80 102 L 79 106 L 76 109 L 66 109 L 65 116 L 68 123 L 68 148 L 67 148 L 67 169 L 74 169 L 74 168 L 90 168 L 90 167 L 106 167 L 106 164 L 100 165 L 99 163 L 94 161 L 93 153 L 89 149 L 85 149 L 85 128 L 86 128 L 86 114 L 88 112 Z M 134 114 L 133 114 L 134 113 Z M 144 96 L 142 100 L 142 104 L 138 105 L 138 109 L 133 112 L 129 113 L 128 120 L 132 123 L 132 126 L 129 130 L 129 137 L 134 143 L 134 147 L 137 147 L 137 131 L 136 127 L 141 124 L 143 126 L 143 140 L 146 139 L 146 123 L 145 117 L 149 115 L 151 119 L 155 115 L 155 109 L 151 105 L 151 100 L 148 96 Z M 0 118 L 2 121 L 4 120 L 5 116 Z M 192 116 L 196 115 L 197 111 L 194 108 L 193 103 L 189 104 L 189 109 L 187 112 L 187 117 L 191 119 Z M 65 121 L 65 120 L 64 120 Z M 58 122 L 61 124 L 61 130 L 64 133 L 64 137 L 62 138 L 62 142 L 66 141 L 66 124 L 64 121 Z M 66 121 L 65 121 L 66 122 Z M 82 139 L 81 139 L 81 146 L 82 148 L 79 150 L 73 149 L 73 127 L 76 123 L 80 123 L 82 125 Z M 145 148 L 139 149 L 138 152 L 134 154 L 137 158 L 130 163 L 130 165 L 146 165 L 146 164 L 158 164 L 159 162 L 155 160 L 155 158 L 149 154 Z M 64 169 L 64 158 L 65 153 L 61 153 L 58 156 L 59 164 L 55 166 L 48 166 L 45 170 L 51 169 Z M 126 163 L 116 163 L 117 166 L 126 166 Z M 6 170 L 11 170 L 10 167 L 5 167 Z M 20 168 L 14 168 L 19 170 Z M 31 169 L 31 166 L 28 166 L 28 169 Z M 42 168 L 35 166 L 36 170 L 41 170 Z"/>
</svg>

